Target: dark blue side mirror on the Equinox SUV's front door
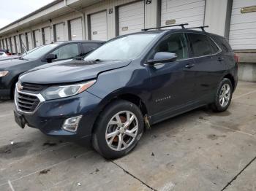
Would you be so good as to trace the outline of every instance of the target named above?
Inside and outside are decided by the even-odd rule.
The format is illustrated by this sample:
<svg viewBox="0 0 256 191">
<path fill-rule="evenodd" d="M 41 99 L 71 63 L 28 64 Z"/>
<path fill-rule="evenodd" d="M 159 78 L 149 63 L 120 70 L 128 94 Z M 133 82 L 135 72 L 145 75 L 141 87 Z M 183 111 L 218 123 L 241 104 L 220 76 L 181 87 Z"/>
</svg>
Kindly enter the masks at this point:
<svg viewBox="0 0 256 191">
<path fill-rule="evenodd" d="M 176 53 L 172 52 L 157 52 L 154 55 L 154 58 L 151 60 L 148 60 L 148 64 L 155 64 L 155 63 L 168 63 L 168 62 L 173 62 L 177 60 L 177 55 Z"/>
</svg>

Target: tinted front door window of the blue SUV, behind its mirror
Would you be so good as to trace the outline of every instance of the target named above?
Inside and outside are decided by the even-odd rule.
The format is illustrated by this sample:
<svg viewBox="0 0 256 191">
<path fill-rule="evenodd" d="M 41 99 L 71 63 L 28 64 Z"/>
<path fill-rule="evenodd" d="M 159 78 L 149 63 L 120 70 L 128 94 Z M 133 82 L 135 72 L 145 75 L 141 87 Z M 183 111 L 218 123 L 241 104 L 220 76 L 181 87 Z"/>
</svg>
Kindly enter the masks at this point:
<svg viewBox="0 0 256 191">
<path fill-rule="evenodd" d="M 160 42 L 154 50 L 156 52 L 172 52 L 176 53 L 177 60 L 188 58 L 187 42 L 184 34 L 171 34 Z"/>
</svg>

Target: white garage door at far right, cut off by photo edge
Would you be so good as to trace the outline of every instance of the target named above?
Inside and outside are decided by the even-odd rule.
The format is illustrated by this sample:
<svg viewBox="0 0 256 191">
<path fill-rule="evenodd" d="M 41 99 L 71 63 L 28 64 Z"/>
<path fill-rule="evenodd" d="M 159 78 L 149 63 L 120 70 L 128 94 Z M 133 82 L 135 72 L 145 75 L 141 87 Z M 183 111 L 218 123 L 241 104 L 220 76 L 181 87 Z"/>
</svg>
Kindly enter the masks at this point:
<svg viewBox="0 0 256 191">
<path fill-rule="evenodd" d="M 233 0 L 229 36 L 233 50 L 256 49 L 256 12 L 241 13 L 243 7 L 252 6 L 255 0 Z"/>
</svg>

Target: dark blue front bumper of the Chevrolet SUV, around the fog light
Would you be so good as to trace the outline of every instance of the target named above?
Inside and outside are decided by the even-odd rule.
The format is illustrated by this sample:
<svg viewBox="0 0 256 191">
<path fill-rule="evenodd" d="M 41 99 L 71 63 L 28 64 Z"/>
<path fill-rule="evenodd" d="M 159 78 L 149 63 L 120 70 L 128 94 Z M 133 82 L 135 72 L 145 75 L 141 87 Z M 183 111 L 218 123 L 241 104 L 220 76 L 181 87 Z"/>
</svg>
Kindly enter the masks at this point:
<svg viewBox="0 0 256 191">
<path fill-rule="evenodd" d="M 97 107 L 101 99 L 89 92 L 83 92 L 69 98 L 43 101 L 32 114 L 21 114 L 26 124 L 31 128 L 37 128 L 48 136 L 62 136 L 67 139 L 89 139 L 94 122 L 99 114 Z M 62 129 L 67 118 L 83 115 L 78 130 L 69 132 Z"/>
</svg>

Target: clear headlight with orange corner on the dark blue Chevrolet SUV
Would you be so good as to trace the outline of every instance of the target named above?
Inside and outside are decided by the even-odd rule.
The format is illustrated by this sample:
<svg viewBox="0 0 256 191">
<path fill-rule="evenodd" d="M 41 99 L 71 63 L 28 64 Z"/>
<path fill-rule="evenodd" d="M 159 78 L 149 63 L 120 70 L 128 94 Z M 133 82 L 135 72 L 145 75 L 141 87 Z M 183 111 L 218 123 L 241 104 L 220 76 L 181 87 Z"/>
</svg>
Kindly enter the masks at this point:
<svg viewBox="0 0 256 191">
<path fill-rule="evenodd" d="M 94 85 L 96 80 L 91 80 L 89 82 L 84 82 L 78 85 L 61 85 L 61 86 L 52 86 L 48 87 L 42 92 L 42 96 L 46 99 L 57 99 L 57 98 L 66 98 L 78 93 L 82 93 L 87 90 L 91 85 Z"/>
</svg>

